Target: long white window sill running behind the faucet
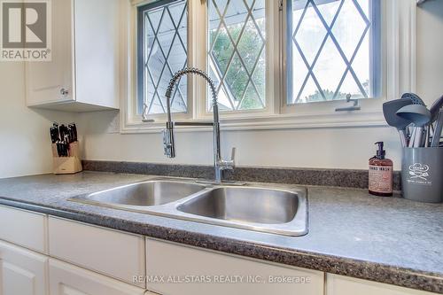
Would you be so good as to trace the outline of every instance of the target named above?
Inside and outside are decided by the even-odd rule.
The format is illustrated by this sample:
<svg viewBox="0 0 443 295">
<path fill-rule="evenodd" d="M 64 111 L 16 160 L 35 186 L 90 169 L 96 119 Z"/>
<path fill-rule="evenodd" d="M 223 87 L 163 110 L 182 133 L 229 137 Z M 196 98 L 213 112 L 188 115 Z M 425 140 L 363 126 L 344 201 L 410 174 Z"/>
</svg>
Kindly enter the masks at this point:
<svg viewBox="0 0 443 295">
<path fill-rule="evenodd" d="M 183 120 L 180 120 L 183 121 Z M 184 120 L 211 121 L 211 120 Z M 121 134 L 159 133 L 166 126 L 164 121 L 143 123 L 128 122 L 120 128 Z M 343 112 L 333 114 L 293 115 L 279 114 L 255 118 L 221 118 L 221 130 L 273 130 L 300 128 L 354 128 L 354 127 L 385 127 L 386 121 L 382 112 Z M 175 132 L 207 132 L 208 127 L 180 127 Z"/>
</svg>

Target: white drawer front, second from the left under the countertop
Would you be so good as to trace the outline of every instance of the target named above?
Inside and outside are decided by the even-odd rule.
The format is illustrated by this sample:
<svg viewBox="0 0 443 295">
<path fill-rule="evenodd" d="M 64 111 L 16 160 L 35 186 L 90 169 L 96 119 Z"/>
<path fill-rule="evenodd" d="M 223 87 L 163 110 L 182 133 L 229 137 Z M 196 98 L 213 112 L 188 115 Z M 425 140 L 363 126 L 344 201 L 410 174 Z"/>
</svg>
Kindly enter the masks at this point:
<svg viewBox="0 0 443 295">
<path fill-rule="evenodd" d="M 52 257 L 135 283 L 145 275 L 144 237 L 80 222 L 49 218 L 49 252 Z"/>
</svg>

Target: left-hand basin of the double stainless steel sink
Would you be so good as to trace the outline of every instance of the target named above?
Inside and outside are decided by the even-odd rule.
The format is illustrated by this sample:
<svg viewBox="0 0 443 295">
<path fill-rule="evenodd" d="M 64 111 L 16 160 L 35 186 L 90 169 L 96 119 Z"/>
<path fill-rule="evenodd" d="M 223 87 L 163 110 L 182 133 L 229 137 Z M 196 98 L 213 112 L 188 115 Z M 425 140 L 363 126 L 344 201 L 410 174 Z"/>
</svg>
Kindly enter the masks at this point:
<svg viewBox="0 0 443 295">
<path fill-rule="evenodd" d="M 159 206 L 188 197 L 205 188 L 192 182 L 152 180 L 99 191 L 77 200 L 109 206 Z"/>
</svg>

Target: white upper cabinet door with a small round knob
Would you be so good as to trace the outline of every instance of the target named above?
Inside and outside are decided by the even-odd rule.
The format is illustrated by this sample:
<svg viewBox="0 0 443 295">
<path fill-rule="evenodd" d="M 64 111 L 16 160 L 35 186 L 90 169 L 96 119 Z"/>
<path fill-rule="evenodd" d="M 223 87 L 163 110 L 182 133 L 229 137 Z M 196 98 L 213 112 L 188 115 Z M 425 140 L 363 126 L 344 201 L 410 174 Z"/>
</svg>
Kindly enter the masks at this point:
<svg viewBox="0 0 443 295">
<path fill-rule="evenodd" d="M 73 1 L 50 2 L 52 60 L 27 62 L 27 105 L 45 105 L 74 100 Z"/>
</svg>

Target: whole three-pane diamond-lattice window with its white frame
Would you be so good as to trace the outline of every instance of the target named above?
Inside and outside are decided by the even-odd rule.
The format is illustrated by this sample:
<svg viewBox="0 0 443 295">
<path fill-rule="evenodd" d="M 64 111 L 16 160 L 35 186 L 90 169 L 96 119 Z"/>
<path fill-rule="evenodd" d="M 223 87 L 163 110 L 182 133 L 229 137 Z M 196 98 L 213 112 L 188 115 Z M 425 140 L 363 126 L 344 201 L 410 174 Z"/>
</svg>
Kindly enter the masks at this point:
<svg viewBox="0 0 443 295">
<path fill-rule="evenodd" d="M 378 126 L 384 99 L 414 91 L 415 0 L 130 2 L 136 99 L 124 120 L 137 132 L 163 127 L 167 84 L 185 66 L 215 82 L 223 128 Z M 348 94 L 361 111 L 336 112 Z M 202 79 L 183 76 L 173 95 L 175 120 L 211 120 Z M 155 122 L 140 123 L 144 112 Z"/>
</svg>

